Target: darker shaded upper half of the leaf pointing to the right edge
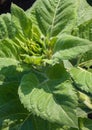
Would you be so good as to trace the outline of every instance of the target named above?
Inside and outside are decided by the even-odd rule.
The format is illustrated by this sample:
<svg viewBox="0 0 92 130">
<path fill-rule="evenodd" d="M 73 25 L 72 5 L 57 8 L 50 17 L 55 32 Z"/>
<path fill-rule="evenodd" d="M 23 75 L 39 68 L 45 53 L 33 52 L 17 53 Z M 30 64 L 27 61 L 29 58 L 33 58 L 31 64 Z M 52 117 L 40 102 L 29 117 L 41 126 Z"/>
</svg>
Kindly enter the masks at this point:
<svg viewBox="0 0 92 130">
<path fill-rule="evenodd" d="M 61 35 L 61 37 L 58 38 L 54 47 L 54 52 L 64 49 L 71 49 L 77 46 L 81 47 L 83 45 L 90 46 L 92 45 L 92 42 L 72 35 L 63 34 Z"/>
</svg>

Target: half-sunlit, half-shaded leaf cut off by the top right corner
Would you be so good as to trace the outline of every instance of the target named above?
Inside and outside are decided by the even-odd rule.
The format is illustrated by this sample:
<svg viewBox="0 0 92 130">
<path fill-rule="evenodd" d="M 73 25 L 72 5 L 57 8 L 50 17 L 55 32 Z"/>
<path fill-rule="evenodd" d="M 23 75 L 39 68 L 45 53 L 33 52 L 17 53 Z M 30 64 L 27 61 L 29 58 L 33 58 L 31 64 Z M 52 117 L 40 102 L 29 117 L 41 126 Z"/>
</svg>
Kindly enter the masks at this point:
<svg viewBox="0 0 92 130">
<path fill-rule="evenodd" d="M 77 24 L 72 34 L 92 41 L 92 7 L 86 0 L 79 0 Z"/>
</svg>

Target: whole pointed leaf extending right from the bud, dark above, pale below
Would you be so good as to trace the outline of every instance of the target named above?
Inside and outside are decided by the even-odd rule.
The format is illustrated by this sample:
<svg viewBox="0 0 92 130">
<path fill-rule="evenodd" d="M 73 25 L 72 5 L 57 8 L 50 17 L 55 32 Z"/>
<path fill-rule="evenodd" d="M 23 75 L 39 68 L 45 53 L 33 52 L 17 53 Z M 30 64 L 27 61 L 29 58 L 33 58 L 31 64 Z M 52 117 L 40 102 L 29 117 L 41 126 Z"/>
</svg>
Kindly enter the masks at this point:
<svg viewBox="0 0 92 130">
<path fill-rule="evenodd" d="M 89 50 L 92 50 L 92 43 L 89 40 L 64 34 L 55 44 L 52 62 L 73 59 Z"/>
</svg>

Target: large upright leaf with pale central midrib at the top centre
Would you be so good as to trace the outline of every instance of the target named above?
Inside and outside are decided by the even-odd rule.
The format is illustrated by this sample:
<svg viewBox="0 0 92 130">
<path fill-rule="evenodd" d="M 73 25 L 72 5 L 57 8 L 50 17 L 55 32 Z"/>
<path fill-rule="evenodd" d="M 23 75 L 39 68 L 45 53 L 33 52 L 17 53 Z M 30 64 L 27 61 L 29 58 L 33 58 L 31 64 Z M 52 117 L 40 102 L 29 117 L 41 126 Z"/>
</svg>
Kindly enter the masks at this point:
<svg viewBox="0 0 92 130">
<path fill-rule="evenodd" d="M 77 4 L 77 0 L 38 0 L 27 13 L 31 13 L 42 33 L 51 37 L 71 32 L 76 22 Z"/>
</svg>

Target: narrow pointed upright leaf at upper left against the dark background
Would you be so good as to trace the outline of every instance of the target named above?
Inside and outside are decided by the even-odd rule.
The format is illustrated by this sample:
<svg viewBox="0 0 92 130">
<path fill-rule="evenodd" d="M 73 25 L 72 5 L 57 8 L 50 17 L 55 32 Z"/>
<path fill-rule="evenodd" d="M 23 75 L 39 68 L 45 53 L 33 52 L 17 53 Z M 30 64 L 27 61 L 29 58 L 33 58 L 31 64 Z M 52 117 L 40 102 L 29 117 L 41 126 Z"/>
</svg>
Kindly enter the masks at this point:
<svg viewBox="0 0 92 130">
<path fill-rule="evenodd" d="M 12 4 L 11 18 L 13 24 L 18 29 L 17 33 L 21 33 L 25 38 L 30 39 L 32 35 L 32 22 L 25 12 L 18 6 Z"/>
</svg>

